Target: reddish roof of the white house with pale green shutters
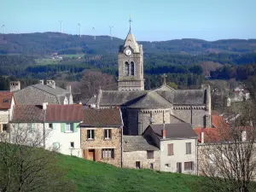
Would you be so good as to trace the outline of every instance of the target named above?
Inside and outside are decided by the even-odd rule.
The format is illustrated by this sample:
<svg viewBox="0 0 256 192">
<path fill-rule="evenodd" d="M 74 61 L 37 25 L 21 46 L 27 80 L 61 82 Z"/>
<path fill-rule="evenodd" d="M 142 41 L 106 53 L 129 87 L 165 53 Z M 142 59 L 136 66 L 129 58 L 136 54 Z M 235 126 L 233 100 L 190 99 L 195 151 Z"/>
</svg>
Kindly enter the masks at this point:
<svg viewBox="0 0 256 192">
<path fill-rule="evenodd" d="M 48 105 L 46 122 L 80 122 L 84 119 L 83 105 Z"/>
</svg>

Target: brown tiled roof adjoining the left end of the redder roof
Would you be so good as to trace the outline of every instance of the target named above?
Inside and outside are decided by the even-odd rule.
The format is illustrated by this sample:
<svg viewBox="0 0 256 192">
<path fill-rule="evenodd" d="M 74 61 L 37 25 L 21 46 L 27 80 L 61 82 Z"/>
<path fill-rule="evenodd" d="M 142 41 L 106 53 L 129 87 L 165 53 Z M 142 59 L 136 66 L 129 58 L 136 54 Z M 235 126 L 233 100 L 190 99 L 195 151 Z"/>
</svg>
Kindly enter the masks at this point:
<svg viewBox="0 0 256 192">
<path fill-rule="evenodd" d="M 40 105 L 16 105 L 14 108 L 14 123 L 42 123 L 44 110 Z"/>
</svg>

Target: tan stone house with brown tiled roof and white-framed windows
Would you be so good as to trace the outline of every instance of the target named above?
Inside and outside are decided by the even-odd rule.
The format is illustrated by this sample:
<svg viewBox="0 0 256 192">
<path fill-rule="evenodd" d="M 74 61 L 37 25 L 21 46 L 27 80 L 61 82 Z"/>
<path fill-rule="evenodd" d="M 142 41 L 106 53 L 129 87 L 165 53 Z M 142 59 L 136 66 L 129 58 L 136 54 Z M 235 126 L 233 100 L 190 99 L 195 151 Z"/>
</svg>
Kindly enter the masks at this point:
<svg viewBox="0 0 256 192">
<path fill-rule="evenodd" d="M 84 109 L 80 127 L 84 159 L 122 166 L 123 120 L 119 108 Z"/>
</svg>

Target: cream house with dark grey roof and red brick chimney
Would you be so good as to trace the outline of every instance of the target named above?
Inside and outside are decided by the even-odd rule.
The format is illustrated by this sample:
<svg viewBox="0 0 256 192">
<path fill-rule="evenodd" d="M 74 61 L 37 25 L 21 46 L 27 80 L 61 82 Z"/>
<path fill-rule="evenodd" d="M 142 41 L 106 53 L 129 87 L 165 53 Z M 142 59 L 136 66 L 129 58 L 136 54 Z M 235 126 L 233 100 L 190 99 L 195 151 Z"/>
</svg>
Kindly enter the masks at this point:
<svg viewBox="0 0 256 192">
<path fill-rule="evenodd" d="M 196 174 L 197 135 L 191 125 L 148 125 L 143 136 L 160 148 L 160 171 Z"/>
</svg>

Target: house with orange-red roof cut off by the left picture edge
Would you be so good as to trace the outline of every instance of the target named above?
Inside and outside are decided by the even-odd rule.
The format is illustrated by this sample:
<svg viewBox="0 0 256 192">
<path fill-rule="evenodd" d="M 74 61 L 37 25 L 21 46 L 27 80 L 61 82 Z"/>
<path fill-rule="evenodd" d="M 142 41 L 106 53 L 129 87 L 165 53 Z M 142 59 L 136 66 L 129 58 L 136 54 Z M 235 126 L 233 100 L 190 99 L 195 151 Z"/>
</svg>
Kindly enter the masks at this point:
<svg viewBox="0 0 256 192">
<path fill-rule="evenodd" d="M 0 92 L 0 133 L 9 131 L 9 120 L 12 119 L 14 106 L 13 93 Z"/>
</svg>

